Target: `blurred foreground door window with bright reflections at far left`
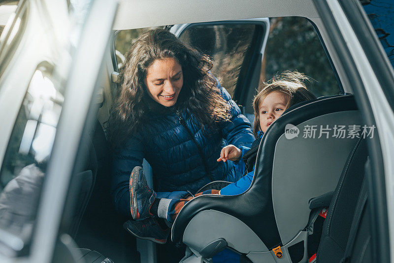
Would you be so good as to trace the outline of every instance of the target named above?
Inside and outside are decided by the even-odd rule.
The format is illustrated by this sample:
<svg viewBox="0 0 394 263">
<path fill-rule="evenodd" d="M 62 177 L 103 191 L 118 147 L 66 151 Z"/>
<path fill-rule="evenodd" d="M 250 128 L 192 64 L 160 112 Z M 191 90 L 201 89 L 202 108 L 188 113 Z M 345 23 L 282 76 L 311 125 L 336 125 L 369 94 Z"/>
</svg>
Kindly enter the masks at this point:
<svg viewBox="0 0 394 263">
<path fill-rule="evenodd" d="M 0 230 L 30 241 L 63 94 L 48 63 L 34 72 L 0 170 Z"/>
</svg>

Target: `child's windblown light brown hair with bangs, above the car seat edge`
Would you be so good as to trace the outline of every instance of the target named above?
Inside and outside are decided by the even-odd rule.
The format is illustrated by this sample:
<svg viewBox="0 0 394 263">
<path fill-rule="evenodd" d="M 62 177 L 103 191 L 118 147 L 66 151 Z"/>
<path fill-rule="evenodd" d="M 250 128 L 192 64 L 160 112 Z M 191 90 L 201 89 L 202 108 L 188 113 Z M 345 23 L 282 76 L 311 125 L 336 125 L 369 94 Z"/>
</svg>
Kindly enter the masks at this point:
<svg viewBox="0 0 394 263">
<path fill-rule="evenodd" d="M 310 78 L 303 73 L 297 71 L 284 71 L 280 75 L 275 75 L 272 79 L 264 82 L 259 87 L 261 91 L 253 100 L 253 109 L 255 111 L 255 120 L 253 122 L 253 133 L 257 138 L 260 131 L 260 114 L 259 106 L 263 100 L 273 91 L 281 91 L 289 95 L 290 99 L 286 105 L 286 109 L 303 101 L 314 100 L 316 96 L 306 89 L 304 81 L 310 81 Z"/>
</svg>

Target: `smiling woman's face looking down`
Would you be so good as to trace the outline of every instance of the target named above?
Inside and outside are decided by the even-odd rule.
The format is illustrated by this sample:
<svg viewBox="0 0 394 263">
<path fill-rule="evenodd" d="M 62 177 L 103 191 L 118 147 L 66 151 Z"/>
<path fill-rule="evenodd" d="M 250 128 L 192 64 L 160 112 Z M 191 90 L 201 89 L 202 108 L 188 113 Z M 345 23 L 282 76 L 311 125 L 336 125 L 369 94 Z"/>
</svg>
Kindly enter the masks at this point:
<svg viewBox="0 0 394 263">
<path fill-rule="evenodd" d="M 157 103 L 174 106 L 183 85 L 181 65 L 173 58 L 155 60 L 148 68 L 145 85 Z"/>
</svg>

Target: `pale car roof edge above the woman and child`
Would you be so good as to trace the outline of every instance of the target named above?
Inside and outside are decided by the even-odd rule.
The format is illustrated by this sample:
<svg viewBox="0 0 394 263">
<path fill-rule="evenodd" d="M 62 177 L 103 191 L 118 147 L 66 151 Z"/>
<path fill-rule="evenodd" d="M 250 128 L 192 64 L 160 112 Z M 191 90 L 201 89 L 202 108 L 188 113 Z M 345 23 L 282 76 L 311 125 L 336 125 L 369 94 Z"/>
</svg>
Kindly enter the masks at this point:
<svg viewBox="0 0 394 263">
<path fill-rule="evenodd" d="M 280 16 L 319 17 L 312 0 L 121 0 L 113 29 Z"/>
</svg>

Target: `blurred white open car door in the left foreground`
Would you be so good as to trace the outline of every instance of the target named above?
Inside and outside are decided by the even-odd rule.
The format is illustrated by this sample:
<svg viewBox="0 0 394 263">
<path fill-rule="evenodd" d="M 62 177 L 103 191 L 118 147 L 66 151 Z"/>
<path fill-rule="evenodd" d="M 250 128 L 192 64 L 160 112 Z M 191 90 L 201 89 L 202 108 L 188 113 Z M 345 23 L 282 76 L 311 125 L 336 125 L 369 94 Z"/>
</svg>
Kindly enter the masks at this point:
<svg viewBox="0 0 394 263">
<path fill-rule="evenodd" d="M 1 34 L 0 262 L 78 260 L 59 225 L 117 2 L 79 7 L 20 1 Z"/>
</svg>

